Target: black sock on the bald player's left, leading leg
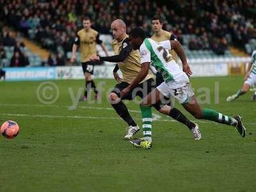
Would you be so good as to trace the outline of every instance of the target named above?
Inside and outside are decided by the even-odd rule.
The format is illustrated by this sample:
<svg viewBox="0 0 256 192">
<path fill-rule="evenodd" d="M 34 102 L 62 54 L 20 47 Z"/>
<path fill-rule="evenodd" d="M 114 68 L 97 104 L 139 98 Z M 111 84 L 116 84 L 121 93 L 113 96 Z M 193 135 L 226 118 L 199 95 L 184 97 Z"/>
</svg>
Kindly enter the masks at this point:
<svg viewBox="0 0 256 192">
<path fill-rule="evenodd" d="M 113 108 L 116 110 L 116 113 L 125 121 L 129 126 L 135 127 L 137 124 L 132 119 L 131 115 L 129 114 L 129 111 L 127 107 L 125 106 L 124 102 L 122 100 L 118 102 L 118 104 L 111 104 Z"/>
</svg>

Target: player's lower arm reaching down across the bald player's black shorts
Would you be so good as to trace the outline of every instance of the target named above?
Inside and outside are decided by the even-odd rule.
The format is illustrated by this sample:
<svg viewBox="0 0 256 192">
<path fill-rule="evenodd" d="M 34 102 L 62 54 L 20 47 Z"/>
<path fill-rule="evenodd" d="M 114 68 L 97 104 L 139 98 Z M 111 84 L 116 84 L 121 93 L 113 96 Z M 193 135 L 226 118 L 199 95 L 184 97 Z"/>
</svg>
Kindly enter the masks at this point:
<svg viewBox="0 0 256 192">
<path fill-rule="evenodd" d="M 149 69 L 150 63 L 141 63 L 141 68 L 138 76 L 133 79 L 132 83 L 127 86 L 122 92 L 120 92 L 120 97 L 122 98 L 126 93 L 129 93 L 132 88 L 134 88 L 137 84 L 139 84 L 148 74 L 148 69 Z"/>
</svg>

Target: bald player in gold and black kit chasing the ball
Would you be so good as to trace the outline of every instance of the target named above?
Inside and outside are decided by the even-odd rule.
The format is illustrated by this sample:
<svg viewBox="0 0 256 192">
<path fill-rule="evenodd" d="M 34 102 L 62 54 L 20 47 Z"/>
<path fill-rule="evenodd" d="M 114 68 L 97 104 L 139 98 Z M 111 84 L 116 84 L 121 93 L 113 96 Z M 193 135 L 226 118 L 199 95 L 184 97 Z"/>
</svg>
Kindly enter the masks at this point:
<svg viewBox="0 0 256 192">
<path fill-rule="evenodd" d="M 122 100 L 132 100 L 137 95 L 141 98 L 145 97 L 155 88 L 155 83 L 153 79 L 154 76 L 151 72 L 148 72 L 148 74 L 146 74 L 145 77 L 143 77 L 141 81 L 136 84 L 136 86 L 129 90 L 129 93 L 122 97 L 122 100 L 120 99 L 120 92 L 127 88 L 127 86 L 132 83 L 134 77 L 138 76 L 140 72 L 140 52 L 138 50 L 132 50 L 129 36 L 126 33 L 126 25 L 123 20 L 114 20 L 111 24 L 111 29 L 115 38 L 115 40 L 113 40 L 112 42 L 112 47 L 116 55 L 107 57 L 91 56 L 90 59 L 93 61 L 100 60 L 117 63 L 116 67 L 113 70 L 113 76 L 115 77 L 116 81 L 118 81 L 118 84 L 116 84 L 113 91 L 109 94 L 109 101 L 111 102 L 111 105 L 115 109 L 116 113 L 125 122 L 127 122 L 129 126 L 127 134 L 124 138 L 131 139 L 136 132 L 140 131 L 140 128 L 132 119 L 127 107 L 125 106 L 124 102 L 122 102 Z M 118 76 L 118 69 L 121 70 L 124 79 L 121 79 Z M 156 108 L 157 111 L 159 111 L 160 113 L 171 116 L 175 120 L 186 125 L 193 133 L 193 137 L 195 138 L 195 140 L 200 140 L 201 133 L 199 131 L 198 125 L 194 124 L 188 118 L 186 118 L 186 116 L 184 116 L 179 111 L 179 109 L 171 109 L 170 106 L 161 105 L 160 102 L 154 104 L 154 108 Z"/>
</svg>

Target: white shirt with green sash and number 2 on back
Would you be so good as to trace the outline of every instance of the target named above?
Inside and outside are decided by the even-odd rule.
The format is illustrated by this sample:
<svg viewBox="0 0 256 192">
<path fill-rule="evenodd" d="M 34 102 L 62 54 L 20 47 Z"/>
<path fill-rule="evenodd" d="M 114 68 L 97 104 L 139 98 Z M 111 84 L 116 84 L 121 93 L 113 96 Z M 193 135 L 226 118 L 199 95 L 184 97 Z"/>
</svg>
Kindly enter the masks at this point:
<svg viewBox="0 0 256 192">
<path fill-rule="evenodd" d="M 161 73 L 166 83 L 170 81 L 189 82 L 188 76 L 173 60 L 169 49 L 171 49 L 170 40 L 155 42 L 146 38 L 140 46 L 141 63 L 150 62 Z"/>
</svg>

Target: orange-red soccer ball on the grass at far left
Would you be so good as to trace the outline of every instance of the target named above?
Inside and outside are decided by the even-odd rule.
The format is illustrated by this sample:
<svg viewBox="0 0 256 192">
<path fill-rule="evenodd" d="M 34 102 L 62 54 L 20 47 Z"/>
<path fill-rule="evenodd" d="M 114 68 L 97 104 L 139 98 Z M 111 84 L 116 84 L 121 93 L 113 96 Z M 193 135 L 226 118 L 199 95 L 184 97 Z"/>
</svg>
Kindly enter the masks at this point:
<svg viewBox="0 0 256 192">
<path fill-rule="evenodd" d="M 11 120 L 4 122 L 3 125 L 1 125 L 1 134 L 7 139 L 15 138 L 19 134 L 19 131 L 19 125 Z"/>
</svg>

